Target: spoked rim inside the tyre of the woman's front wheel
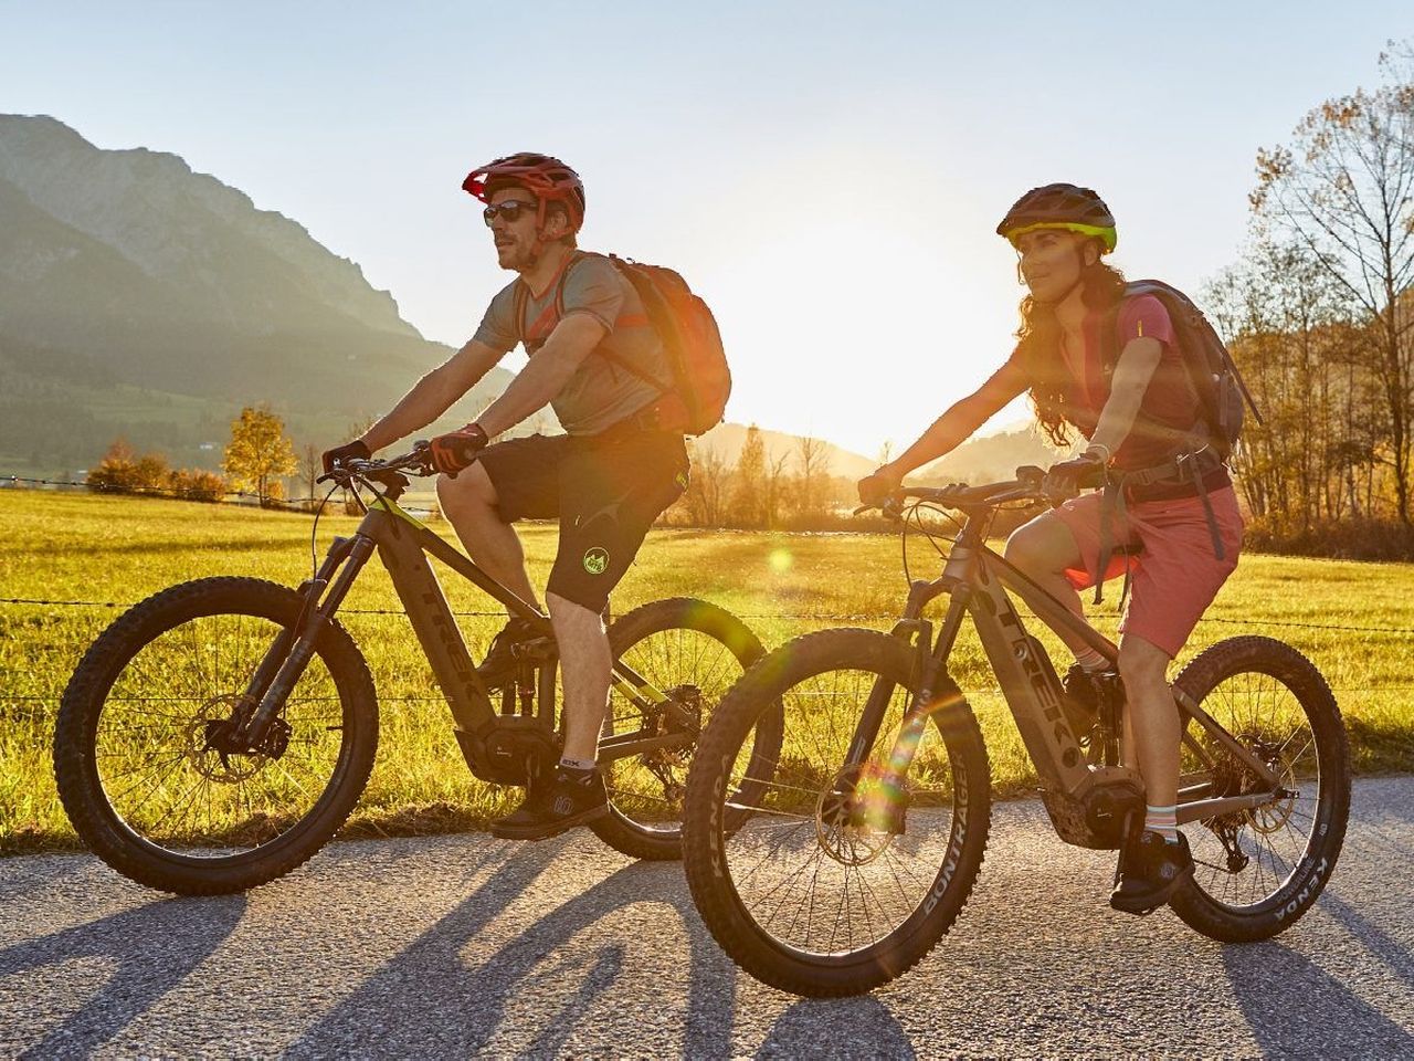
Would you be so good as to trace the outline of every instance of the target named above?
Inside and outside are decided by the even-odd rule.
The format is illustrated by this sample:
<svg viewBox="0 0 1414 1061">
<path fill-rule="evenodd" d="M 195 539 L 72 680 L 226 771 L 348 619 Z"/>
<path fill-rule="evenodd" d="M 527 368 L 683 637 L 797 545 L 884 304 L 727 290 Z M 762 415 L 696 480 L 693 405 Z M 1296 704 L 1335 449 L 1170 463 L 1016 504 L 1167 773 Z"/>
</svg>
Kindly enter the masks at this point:
<svg viewBox="0 0 1414 1061">
<path fill-rule="evenodd" d="M 785 740 L 769 778 L 749 747 L 727 779 L 725 870 L 745 917 L 816 965 L 857 962 L 930 910 L 954 842 L 953 764 L 923 730 L 902 791 L 884 774 L 909 692 L 892 688 L 870 754 L 846 765 L 854 724 L 878 675 L 829 669 L 786 689 Z"/>
</svg>

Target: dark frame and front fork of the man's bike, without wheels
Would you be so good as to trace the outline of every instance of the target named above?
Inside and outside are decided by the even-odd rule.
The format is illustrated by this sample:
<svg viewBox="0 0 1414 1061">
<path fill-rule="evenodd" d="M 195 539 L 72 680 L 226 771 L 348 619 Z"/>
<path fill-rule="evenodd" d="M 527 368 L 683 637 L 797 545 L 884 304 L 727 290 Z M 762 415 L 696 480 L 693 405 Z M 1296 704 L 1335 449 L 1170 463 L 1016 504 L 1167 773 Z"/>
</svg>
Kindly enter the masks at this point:
<svg viewBox="0 0 1414 1061">
<path fill-rule="evenodd" d="M 513 710 L 498 713 L 491 693 L 477 673 L 428 556 L 498 600 L 512 615 L 529 620 L 553 645 L 550 620 L 403 509 L 396 501 L 400 492 L 373 491 L 373 499 L 354 535 L 335 538 L 314 579 L 300 587 L 304 596 L 300 620 L 266 654 L 246 689 L 245 702 L 259 706 L 242 727 L 242 737 L 250 746 L 263 738 L 310 662 L 320 631 L 334 618 L 355 579 L 376 552 L 447 699 L 467 765 L 479 778 L 502 782 L 512 778 L 509 782 L 516 784 L 513 778 L 520 777 L 522 764 L 509 763 L 509 758 L 523 753 L 527 741 L 540 750 L 553 748 L 557 656 L 550 651 L 539 661 L 539 699 L 533 714 Z M 683 724 L 691 720 L 686 709 L 622 661 L 614 661 L 611 683 L 646 712 L 676 713 Z M 513 709 L 512 697 L 508 696 L 506 703 Z M 498 736 L 508 736 L 509 740 L 493 740 Z M 516 737 L 520 738 L 519 743 Z M 650 748 L 682 747 L 690 740 L 682 731 L 636 730 L 614 734 L 600 741 L 600 761 L 638 755 Z"/>
</svg>

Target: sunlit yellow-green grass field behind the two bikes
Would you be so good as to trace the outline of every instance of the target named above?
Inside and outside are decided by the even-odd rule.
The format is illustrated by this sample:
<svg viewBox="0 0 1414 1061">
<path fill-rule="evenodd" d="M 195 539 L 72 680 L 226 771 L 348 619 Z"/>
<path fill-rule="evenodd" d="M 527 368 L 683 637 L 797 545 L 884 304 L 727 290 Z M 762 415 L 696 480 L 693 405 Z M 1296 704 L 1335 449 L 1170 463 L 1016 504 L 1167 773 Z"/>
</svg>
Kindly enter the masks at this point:
<svg viewBox="0 0 1414 1061">
<path fill-rule="evenodd" d="M 173 583 L 246 574 L 297 584 L 310 572 L 310 519 L 236 506 L 6 491 L 0 509 L 0 597 L 89 601 L 0 604 L 0 853 L 66 847 L 74 836 L 49 765 L 58 699 L 85 647 L 119 608 Z M 321 552 L 356 521 L 320 523 Z M 436 523 L 450 535 L 445 523 Z M 525 529 L 532 576 L 543 584 L 553 526 Z M 936 574 L 926 543 L 911 545 L 915 576 Z M 936 557 L 935 557 L 936 559 Z M 457 611 L 491 611 L 469 584 L 443 579 Z M 887 628 L 902 607 L 898 539 L 663 529 L 614 598 L 615 614 L 670 596 L 706 597 L 747 618 L 768 648 L 836 625 Z M 1117 594 L 1114 594 L 1117 596 Z M 387 576 L 370 564 L 342 621 L 365 652 L 380 697 L 373 778 L 351 823 L 365 835 L 471 828 L 503 812 L 516 789 L 469 775 L 444 702 L 402 615 Z M 1113 635 L 1113 600 L 1096 610 Z M 461 620 L 474 655 L 495 615 Z M 1322 669 L 1352 733 L 1356 770 L 1414 770 L 1414 566 L 1244 556 L 1179 661 L 1237 634 L 1292 642 Z M 1059 662 L 1065 656 L 1048 631 Z M 1032 781 L 1005 705 L 988 688 L 976 638 L 964 632 L 954 676 L 976 709 L 1000 792 Z"/>
</svg>

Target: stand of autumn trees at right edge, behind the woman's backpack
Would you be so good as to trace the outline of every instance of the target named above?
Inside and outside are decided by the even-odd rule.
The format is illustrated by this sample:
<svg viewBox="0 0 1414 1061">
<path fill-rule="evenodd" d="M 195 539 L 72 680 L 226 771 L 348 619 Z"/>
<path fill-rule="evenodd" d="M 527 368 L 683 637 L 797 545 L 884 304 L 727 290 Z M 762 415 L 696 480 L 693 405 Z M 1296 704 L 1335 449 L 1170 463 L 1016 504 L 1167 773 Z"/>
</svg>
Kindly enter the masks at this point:
<svg viewBox="0 0 1414 1061">
<path fill-rule="evenodd" d="M 1206 289 L 1266 423 L 1237 485 L 1263 547 L 1414 557 L 1414 54 L 1257 153 L 1241 259 Z"/>
</svg>

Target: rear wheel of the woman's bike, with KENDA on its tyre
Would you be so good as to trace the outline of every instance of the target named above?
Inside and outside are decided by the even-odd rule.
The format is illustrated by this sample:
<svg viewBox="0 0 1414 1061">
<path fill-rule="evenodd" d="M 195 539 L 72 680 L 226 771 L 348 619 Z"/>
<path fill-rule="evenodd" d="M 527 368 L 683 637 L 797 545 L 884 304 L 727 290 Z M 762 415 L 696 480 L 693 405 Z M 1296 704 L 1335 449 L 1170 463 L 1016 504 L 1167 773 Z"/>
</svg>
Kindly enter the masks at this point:
<svg viewBox="0 0 1414 1061">
<path fill-rule="evenodd" d="M 1205 649 L 1174 685 L 1258 755 L 1287 795 L 1184 826 L 1193 879 L 1169 905 L 1213 939 L 1267 939 L 1291 928 L 1331 879 L 1350 811 L 1350 747 L 1321 672 L 1287 644 L 1240 637 Z M 1184 788 L 1260 791 L 1250 768 L 1189 721 Z"/>
</svg>

